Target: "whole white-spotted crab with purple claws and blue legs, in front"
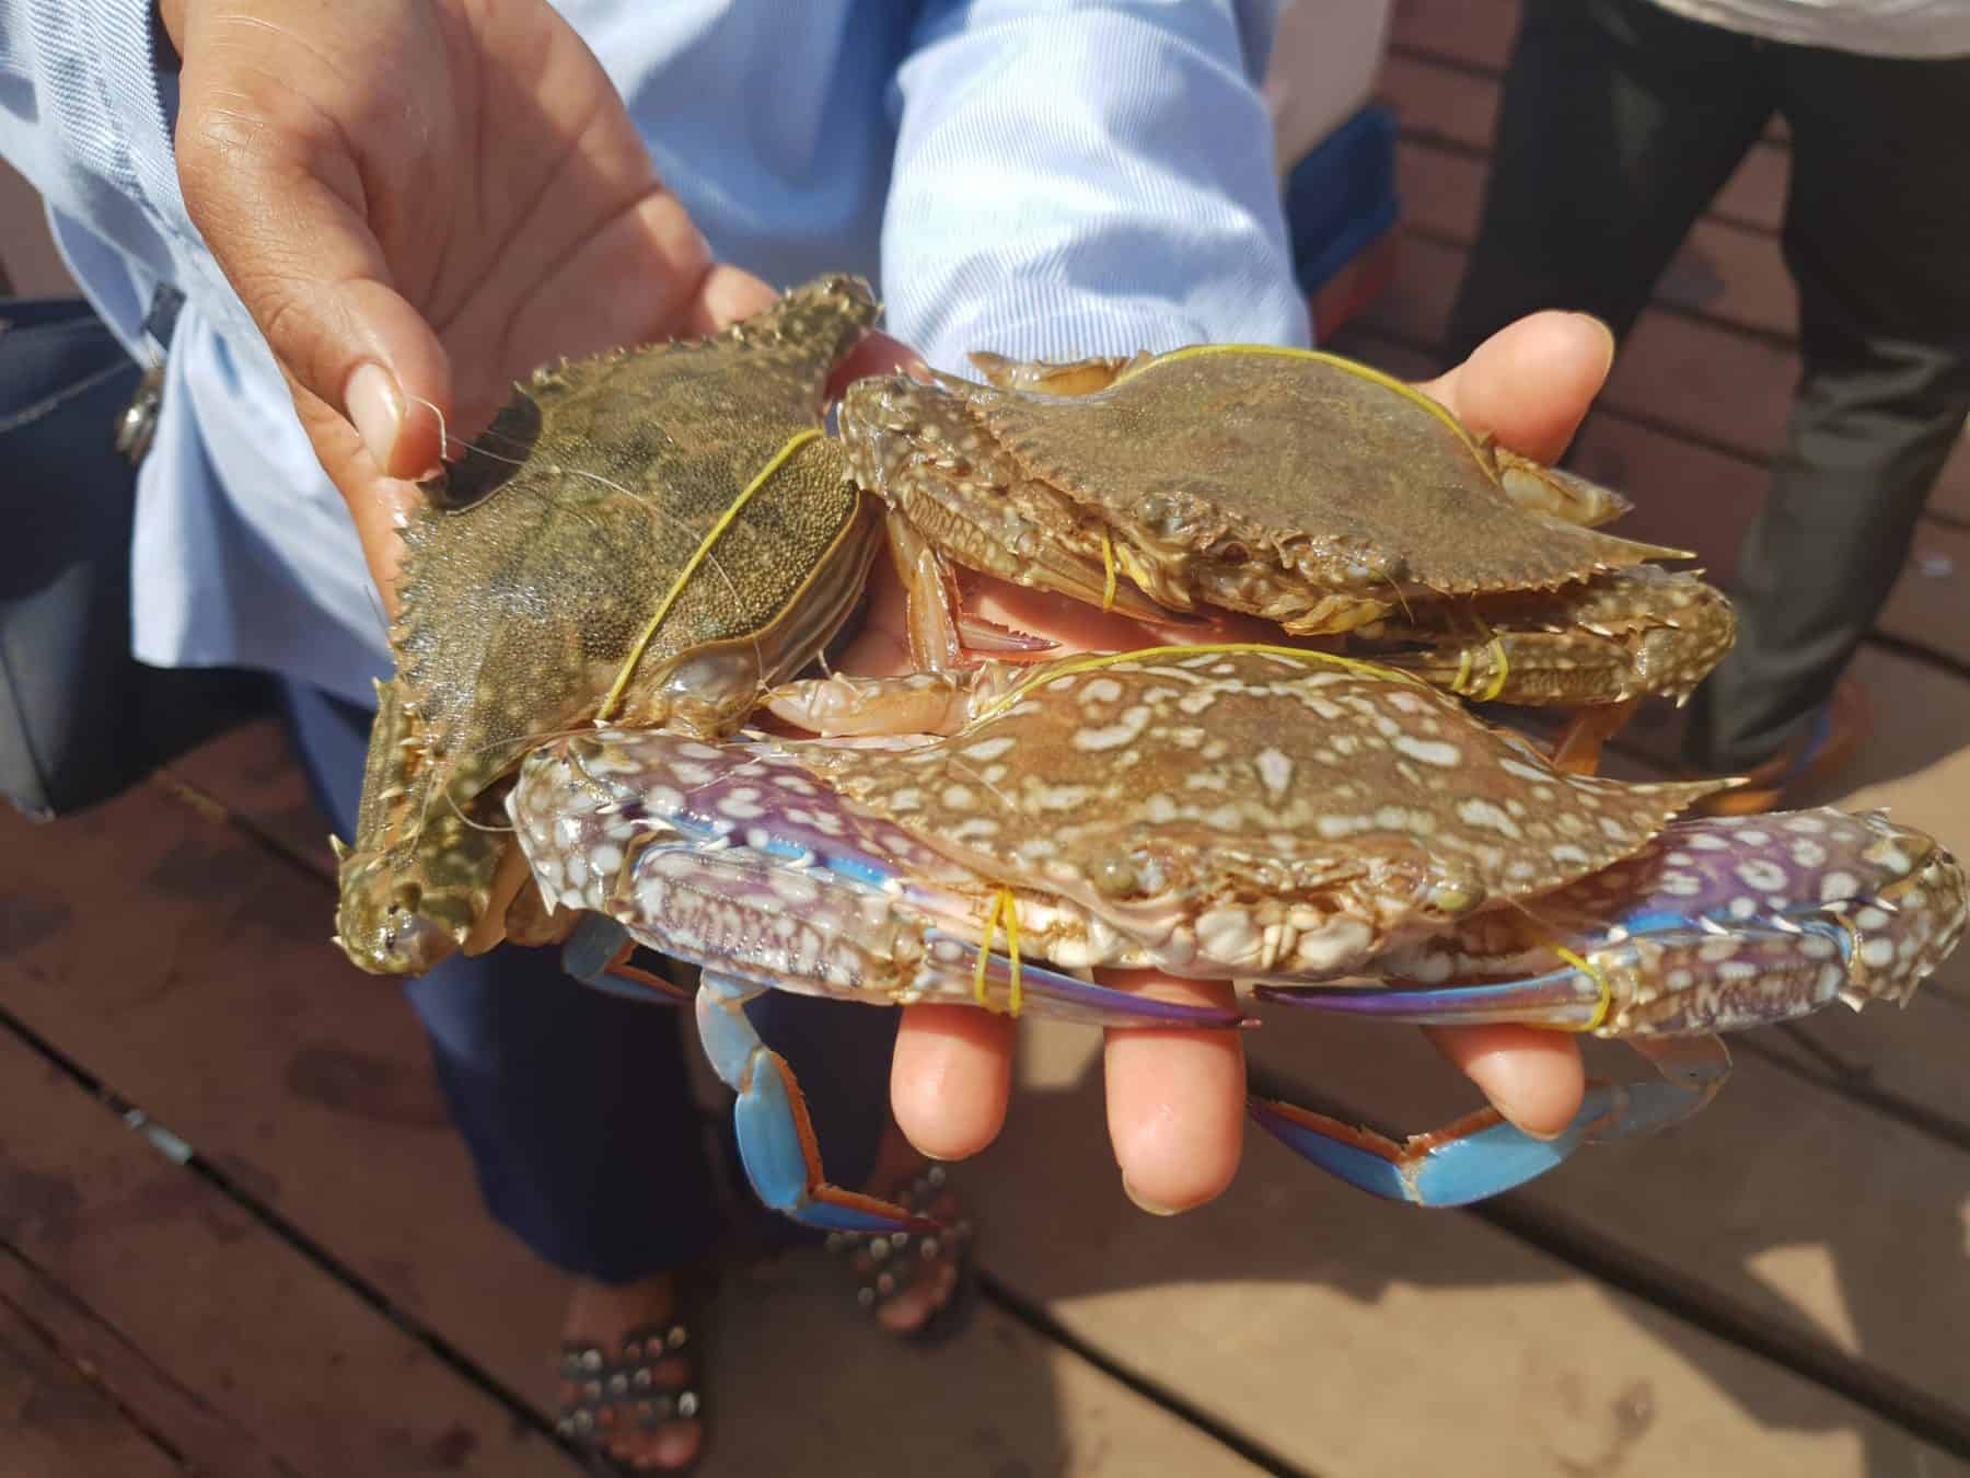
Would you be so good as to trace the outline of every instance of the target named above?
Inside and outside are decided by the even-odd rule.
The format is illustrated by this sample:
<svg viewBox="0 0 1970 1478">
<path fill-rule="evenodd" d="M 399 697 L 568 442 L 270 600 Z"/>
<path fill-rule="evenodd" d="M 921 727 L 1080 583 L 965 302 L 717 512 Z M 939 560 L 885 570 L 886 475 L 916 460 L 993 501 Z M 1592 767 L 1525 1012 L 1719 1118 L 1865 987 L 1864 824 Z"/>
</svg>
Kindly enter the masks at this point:
<svg viewBox="0 0 1970 1478">
<path fill-rule="evenodd" d="M 1655 1039 L 1905 999 L 1964 918 L 1962 871 L 1913 830 L 1838 812 L 1674 824 L 1728 782 L 1566 773 L 1407 674 L 1296 648 L 810 680 L 768 704 L 920 731 L 567 737 L 526 761 L 508 814 L 546 899 L 583 910 L 569 948 L 599 983 L 624 930 L 701 968 L 699 1033 L 737 1092 L 756 1194 L 835 1230 L 920 1222 L 827 1182 L 792 1070 L 745 1019 L 768 989 L 1245 1023 L 1087 974 L 1152 966 L 1300 1005 L 1633 1037 L 1671 1070 L 1667 1088 L 1596 1086 L 1552 1143 L 1474 1115 L 1397 1147 L 1253 1102 L 1357 1184 L 1450 1202 L 1700 1108 L 1728 1054 Z M 1464 974 L 1507 983 L 1448 983 Z M 1363 975 L 1403 987 L 1304 989 Z"/>
</svg>

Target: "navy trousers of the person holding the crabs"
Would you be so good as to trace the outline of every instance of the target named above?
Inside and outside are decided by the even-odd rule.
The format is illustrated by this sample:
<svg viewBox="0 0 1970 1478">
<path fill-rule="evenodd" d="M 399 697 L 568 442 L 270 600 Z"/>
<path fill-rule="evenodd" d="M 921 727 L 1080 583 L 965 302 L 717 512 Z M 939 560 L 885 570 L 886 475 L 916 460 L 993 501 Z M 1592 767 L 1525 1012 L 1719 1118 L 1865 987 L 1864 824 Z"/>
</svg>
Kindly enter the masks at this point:
<svg viewBox="0 0 1970 1478">
<path fill-rule="evenodd" d="M 315 798 L 349 838 L 370 711 L 292 682 L 284 700 Z M 404 991 L 487 1206 L 546 1261 L 624 1283 L 703 1257 L 723 1230 L 719 1155 L 768 1240 L 804 1236 L 753 1200 L 729 1115 L 705 1123 L 695 1108 L 690 1011 L 581 985 L 558 950 L 455 956 Z M 896 1013 L 776 991 L 751 1017 L 800 1074 L 829 1176 L 861 1186 L 888 1123 Z"/>
</svg>

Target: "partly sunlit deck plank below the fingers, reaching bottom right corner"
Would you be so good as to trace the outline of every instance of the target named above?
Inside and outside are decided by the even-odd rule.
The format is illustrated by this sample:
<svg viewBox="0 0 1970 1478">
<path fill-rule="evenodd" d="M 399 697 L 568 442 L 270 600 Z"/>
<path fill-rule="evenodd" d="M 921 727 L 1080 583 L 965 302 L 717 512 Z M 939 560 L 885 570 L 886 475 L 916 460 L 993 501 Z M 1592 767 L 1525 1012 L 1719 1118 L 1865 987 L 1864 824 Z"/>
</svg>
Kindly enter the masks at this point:
<svg viewBox="0 0 1970 1478">
<path fill-rule="evenodd" d="M 1401 1056 L 1355 1050 L 1377 1078 L 1389 1064 L 1377 1102 L 1407 1102 Z M 1324 1478 L 1970 1472 L 1474 1218 L 1373 1202 L 1257 1133 L 1225 1198 L 1145 1218 L 1101 1125 L 1091 1035 L 1028 1025 L 1009 1127 L 959 1171 L 993 1208 L 987 1263 L 1111 1358 Z M 1637 1171 L 1633 1194 L 1661 1184 Z M 1690 1222 L 1692 1236 L 1706 1224 Z"/>
</svg>

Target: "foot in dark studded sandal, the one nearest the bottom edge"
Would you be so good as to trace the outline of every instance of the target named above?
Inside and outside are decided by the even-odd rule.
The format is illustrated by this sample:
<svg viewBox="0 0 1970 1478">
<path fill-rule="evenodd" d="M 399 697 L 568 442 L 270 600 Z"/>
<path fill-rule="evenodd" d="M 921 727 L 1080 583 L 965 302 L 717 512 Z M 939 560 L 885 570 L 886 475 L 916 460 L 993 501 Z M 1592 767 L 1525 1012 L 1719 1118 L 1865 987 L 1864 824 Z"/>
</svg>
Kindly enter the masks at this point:
<svg viewBox="0 0 1970 1478">
<path fill-rule="evenodd" d="M 705 1427 L 682 1328 L 670 1273 L 636 1283 L 577 1279 L 561 1328 L 563 1433 L 638 1472 L 690 1466 Z M 672 1354 L 652 1360 L 666 1346 Z"/>
</svg>

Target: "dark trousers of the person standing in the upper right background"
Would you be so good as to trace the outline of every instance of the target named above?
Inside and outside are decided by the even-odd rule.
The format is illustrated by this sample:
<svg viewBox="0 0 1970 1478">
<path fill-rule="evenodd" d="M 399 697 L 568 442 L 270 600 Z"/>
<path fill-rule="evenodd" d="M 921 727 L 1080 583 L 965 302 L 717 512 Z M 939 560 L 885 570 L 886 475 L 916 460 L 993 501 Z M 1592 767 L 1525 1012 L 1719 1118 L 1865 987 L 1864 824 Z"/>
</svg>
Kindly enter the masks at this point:
<svg viewBox="0 0 1970 1478">
<path fill-rule="evenodd" d="M 1525 0 L 1450 329 L 1458 357 L 1541 307 L 1625 335 L 1775 112 L 1803 370 L 1732 585 L 1738 646 L 1690 727 L 1690 759 L 1728 771 L 1832 694 L 1970 414 L 1970 57 L 1777 45 L 1649 0 Z"/>
</svg>

